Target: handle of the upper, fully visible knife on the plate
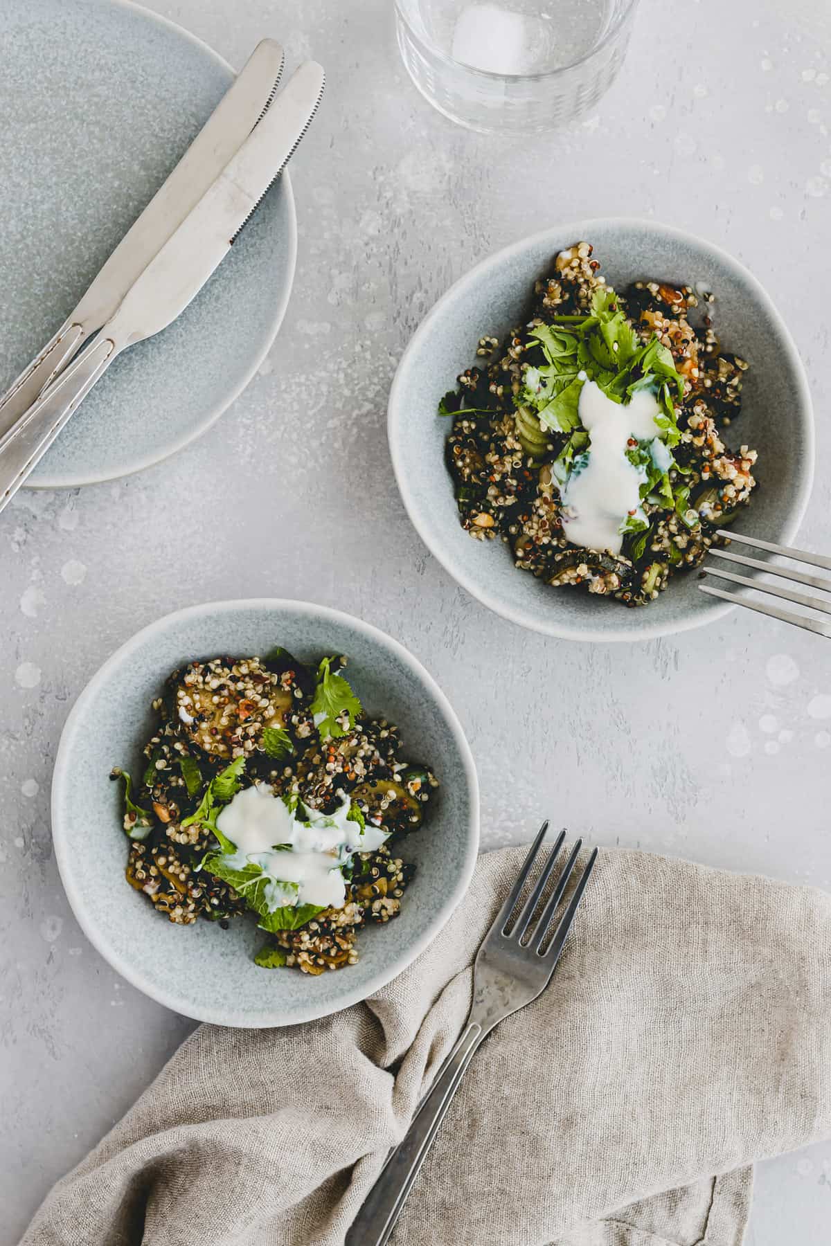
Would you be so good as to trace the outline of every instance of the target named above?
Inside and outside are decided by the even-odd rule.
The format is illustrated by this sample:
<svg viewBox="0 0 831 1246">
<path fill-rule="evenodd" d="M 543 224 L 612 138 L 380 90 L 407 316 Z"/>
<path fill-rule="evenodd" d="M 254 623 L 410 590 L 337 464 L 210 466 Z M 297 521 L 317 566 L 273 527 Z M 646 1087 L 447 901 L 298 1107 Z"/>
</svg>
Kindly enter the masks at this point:
<svg viewBox="0 0 831 1246">
<path fill-rule="evenodd" d="M 0 437 L 0 511 L 17 492 L 118 351 L 112 338 L 95 341 Z"/>
</svg>

